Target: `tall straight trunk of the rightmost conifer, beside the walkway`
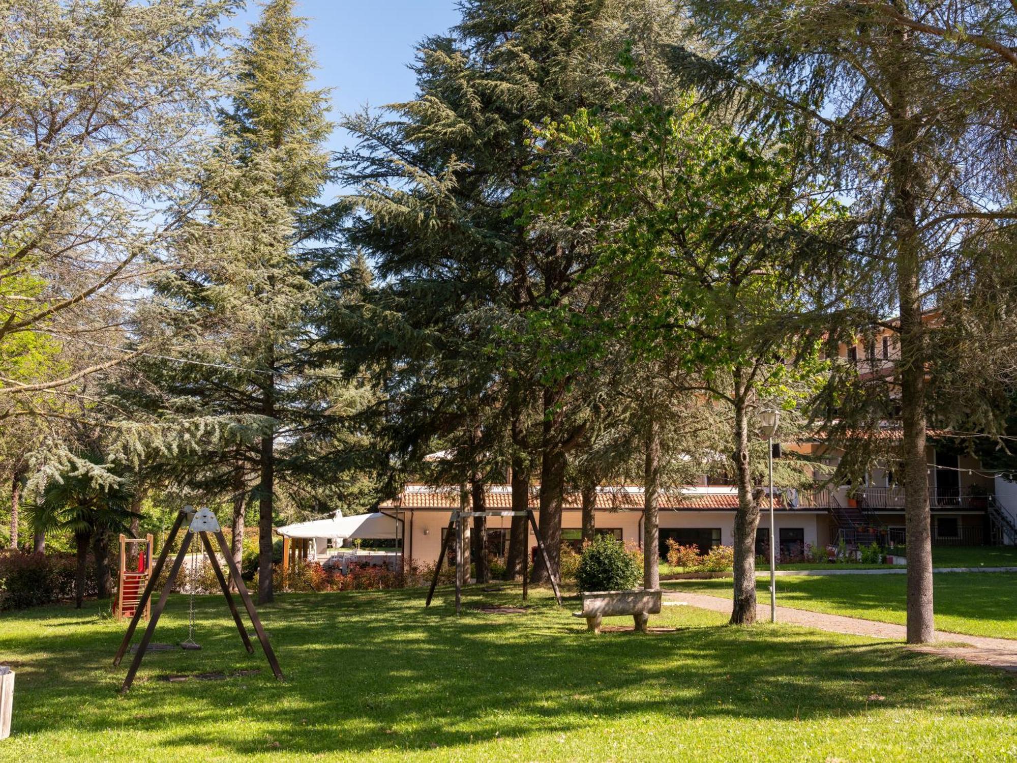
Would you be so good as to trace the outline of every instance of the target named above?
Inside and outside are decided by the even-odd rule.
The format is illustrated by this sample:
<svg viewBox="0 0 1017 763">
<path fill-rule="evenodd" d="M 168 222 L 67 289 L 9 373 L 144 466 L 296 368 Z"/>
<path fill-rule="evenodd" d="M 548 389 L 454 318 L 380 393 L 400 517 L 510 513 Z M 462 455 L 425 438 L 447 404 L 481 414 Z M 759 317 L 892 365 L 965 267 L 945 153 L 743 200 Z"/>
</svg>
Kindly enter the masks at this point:
<svg viewBox="0 0 1017 763">
<path fill-rule="evenodd" d="M 898 3 L 895 3 L 897 5 Z M 915 200 L 918 170 L 914 144 L 909 33 L 894 27 L 884 66 L 890 96 L 890 183 L 896 239 L 900 312 L 901 460 L 904 462 L 904 525 L 907 542 L 907 642 L 933 640 L 933 546 L 925 458 L 925 349 L 921 310 L 921 242 Z"/>
</svg>

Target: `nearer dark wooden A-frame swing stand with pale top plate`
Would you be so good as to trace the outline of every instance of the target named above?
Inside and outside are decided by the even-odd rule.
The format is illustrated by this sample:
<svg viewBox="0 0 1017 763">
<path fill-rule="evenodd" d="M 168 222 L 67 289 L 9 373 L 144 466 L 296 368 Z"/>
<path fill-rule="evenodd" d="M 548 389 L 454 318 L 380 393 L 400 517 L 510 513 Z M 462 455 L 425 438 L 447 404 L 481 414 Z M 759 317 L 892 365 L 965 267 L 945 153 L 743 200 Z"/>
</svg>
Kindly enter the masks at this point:
<svg viewBox="0 0 1017 763">
<path fill-rule="evenodd" d="M 261 627 L 261 621 L 257 617 L 257 610 L 254 609 L 254 602 L 251 601 L 250 593 L 247 592 L 247 586 L 244 585 L 244 581 L 240 577 L 240 570 L 237 569 L 237 563 L 233 559 L 233 554 L 230 552 L 230 547 L 226 542 L 226 538 L 223 536 L 223 530 L 219 526 L 219 521 L 216 519 L 216 515 L 214 515 L 208 509 L 195 511 L 189 506 L 184 507 L 183 510 L 177 514 L 177 519 L 173 523 L 173 529 L 170 530 L 170 535 L 166 539 L 166 542 L 163 544 L 163 549 L 159 553 L 159 560 L 156 562 L 156 566 L 153 568 L 152 574 L 148 576 L 148 582 L 144 587 L 144 593 L 141 594 L 141 599 L 138 602 L 137 607 L 134 609 L 134 617 L 131 618 L 130 625 L 127 626 L 127 632 L 124 634 L 123 641 L 120 643 L 120 648 L 117 649 L 117 654 L 113 658 L 113 664 L 119 665 L 120 660 L 122 660 L 124 654 L 127 653 L 127 649 L 130 646 L 130 640 L 134 636 L 134 630 L 137 628 L 138 621 L 141 618 L 141 613 L 144 611 L 145 604 L 148 603 L 148 599 L 152 597 L 153 591 L 155 590 L 156 581 L 159 580 L 159 576 L 162 575 L 163 568 L 166 566 L 166 560 L 169 556 L 170 548 L 173 547 L 177 534 L 180 532 L 180 528 L 183 526 L 185 521 L 187 522 L 187 532 L 184 535 L 183 541 L 180 543 L 180 550 L 177 552 L 176 559 L 173 560 L 173 567 L 170 568 L 170 576 L 166 580 L 166 585 L 163 586 L 162 593 L 159 595 L 159 601 L 156 602 L 156 606 L 152 611 L 152 618 L 148 620 L 148 626 L 144 629 L 144 635 L 141 637 L 141 643 L 138 644 L 130 669 L 127 670 L 127 677 L 124 679 L 124 683 L 120 687 L 120 692 L 126 692 L 130 689 L 131 684 L 134 682 L 134 676 L 137 673 L 137 668 L 141 665 L 141 659 L 144 657 L 148 644 L 152 642 L 152 636 L 156 632 L 156 624 L 159 623 L 159 617 L 163 613 L 163 608 L 166 606 L 166 600 L 170 597 L 170 591 L 173 588 L 173 583 L 177 579 L 177 574 L 180 572 L 180 567 L 183 564 L 184 557 L 187 555 L 187 549 L 190 547 L 191 541 L 194 539 L 194 535 L 198 535 L 201 538 L 201 545 L 203 546 L 204 552 L 208 555 L 212 569 L 216 573 L 216 579 L 219 581 L 219 586 L 223 590 L 223 596 L 226 598 L 226 603 L 230 607 L 230 613 L 233 614 L 233 622 L 237 625 L 237 631 L 240 633 L 240 639 L 244 643 L 244 648 L 247 649 L 248 653 L 252 653 L 254 651 L 254 647 L 251 645 L 251 640 L 247 635 L 243 620 L 241 620 L 240 612 L 237 609 L 237 604 L 233 600 L 233 595 L 230 593 L 229 584 L 223 575 L 222 568 L 219 566 L 219 560 L 216 557 L 212 541 L 208 540 L 208 535 L 212 534 L 215 536 L 216 540 L 219 542 L 219 547 L 222 550 L 223 555 L 226 557 L 226 564 L 230 568 L 230 576 L 236 583 L 237 592 L 240 594 L 240 600 L 243 601 L 244 608 L 247 610 L 247 615 L 251 620 L 251 625 L 254 626 L 254 633 L 257 635 L 258 641 L 261 643 L 261 649 L 264 651 L 264 656 L 267 658 L 268 664 L 272 666 L 272 671 L 275 673 L 276 679 L 282 681 L 283 671 L 279 667 L 279 661 L 276 659 L 276 653 L 272 650 L 272 645 L 268 643 L 268 637 L 265 635 L 264 629 Z"/>
</svg>

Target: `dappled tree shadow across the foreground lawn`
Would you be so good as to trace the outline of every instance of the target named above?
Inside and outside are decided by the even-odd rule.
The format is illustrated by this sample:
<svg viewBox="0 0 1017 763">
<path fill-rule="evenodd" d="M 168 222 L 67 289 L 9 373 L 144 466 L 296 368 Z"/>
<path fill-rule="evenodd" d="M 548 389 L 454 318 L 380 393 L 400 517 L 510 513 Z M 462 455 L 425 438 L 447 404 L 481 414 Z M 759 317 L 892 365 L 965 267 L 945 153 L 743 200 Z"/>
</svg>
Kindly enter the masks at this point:
<svg viewBox="0 0 1017 763">
<path fill-rule="evenodd" d="M 480 596 L 468 592 L 471 603 Z M 175 726 L 161 744 L 253 754 L 278 743 L 327 754 L 523 738 L 648 714 L 666 722 L 824 718 L 866 712 L 874 693 L 895 707 L 1017 713 L 1012 681 L 894 644 L 791 627 L 703 625 L 723 617 L 685 607 L 665 607 L 657 619 L 673 632 L 595 637 L 570 615 L 569 602 L 559 609 L 535 598 L 525 614 L 466 609 L 457 618 L 447 591 L 429 609 L 423 597 L 290 594 L 260 607 L 287 676 L 282 684 L 259 648 L 244 653 L 222 599 L 199 597 L 202 651 L 145 655 L 126 698 L 115 692 L 129 656 L 112 666 L 122 625 L 72 609 L 36 610 L 14 635 L 0 623 L 0 653 L 25 663 L 33 688 L 15 730 L 44 732 L 54 718 L 82 733 Z M 483 600 L 505 605 L 519 596 L 507 589 Z M 171 600 L 164 618 L 157 641 L 186 637 L 183 597 Z M 215 683 L 155 680 L 252 667 L 262 670 Z M 226 723 L 239 725 L 226 733 Z M 238 732 L 246 724 L 258 730 Z"/>
</svg>

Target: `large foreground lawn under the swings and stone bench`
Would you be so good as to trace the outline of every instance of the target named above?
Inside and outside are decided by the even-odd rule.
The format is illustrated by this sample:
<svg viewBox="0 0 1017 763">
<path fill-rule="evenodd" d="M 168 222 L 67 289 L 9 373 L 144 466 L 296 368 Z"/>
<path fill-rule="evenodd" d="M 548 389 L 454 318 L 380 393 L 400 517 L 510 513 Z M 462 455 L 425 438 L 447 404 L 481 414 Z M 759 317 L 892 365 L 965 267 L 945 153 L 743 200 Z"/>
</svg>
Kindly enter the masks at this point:
<svg viewBox="0 0 1017 763">
<path fill-rule="evenodd" d="M 110 663 L 123 626 L 95 603 L 5 612 L 0 654 L 17 689 L 0 759 L 1017 757 L 1014 676 L 899 644 L 725 627 L 692 607 L 652 619 L 673 631 L 596 637 L 570 615 L 575 602 L 541 595 L 525 614 L 459 619 L 447 592 L 430 609 L 418 590 L 281 596 L 261 615 L 285 683 L 243 652 L 222 600 L 200 597 L 203 650 L 147 655 L 126 697 L 126 662 Z M 517 590 L 487 596 L 519 601 Z M 157 639 L 185 635 L 186 600 L 174 597 Z M 261 672 L 159 679 L 252 667 Z"/>
</svg>

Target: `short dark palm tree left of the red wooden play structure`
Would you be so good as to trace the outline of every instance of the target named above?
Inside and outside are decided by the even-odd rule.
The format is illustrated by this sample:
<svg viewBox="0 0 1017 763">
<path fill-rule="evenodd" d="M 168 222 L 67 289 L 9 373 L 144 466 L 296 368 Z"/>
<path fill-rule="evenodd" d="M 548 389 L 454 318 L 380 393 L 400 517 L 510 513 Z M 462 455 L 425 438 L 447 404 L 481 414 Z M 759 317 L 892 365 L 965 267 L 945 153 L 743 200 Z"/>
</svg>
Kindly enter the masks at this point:
<svg viewBox="0 0 1017 763">
<path fill-rule="evenodd" d="M 97 452 L 85 453 L 82 458 L 97 465 L 105 462 Z M 60 481 L 49 482 L 40 498 L 29 507 L 35 532 L 69 531 L 74 534 L 77 554 L 74 579 L 76 608 L 80 609 L 84 600 L 89 544 L 95 556 L 99 598 L 109 598 L 112 587 L 109 539 L 115 531 L 129 532 L 131 519 L 139 516 L 131 509 L 133 497 L 134 488 L 129 479 L 119 478 L 113 483 L 103 484 L 78 470 L 62 475 Z"/>
</svg>

